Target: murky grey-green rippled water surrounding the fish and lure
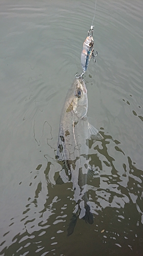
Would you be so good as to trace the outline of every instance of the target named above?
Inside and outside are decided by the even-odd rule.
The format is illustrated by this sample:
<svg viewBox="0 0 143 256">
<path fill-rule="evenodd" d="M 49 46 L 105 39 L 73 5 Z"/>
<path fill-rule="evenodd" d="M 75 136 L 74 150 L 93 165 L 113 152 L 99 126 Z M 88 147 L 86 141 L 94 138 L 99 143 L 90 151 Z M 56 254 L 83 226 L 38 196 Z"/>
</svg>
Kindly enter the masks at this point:
<svg viewBox="0 0 143 256">
<path fill-rule="evenodd" d="M 143 255 L 143 3 L 97 0 L 96 63 L 84 76 L 103 135 L 89 155 L 94 224 L 67 228 L 72 183 L 52 186 L 60 113 L 94 15 L 92 1 L 1 1 L 0 254 Z"/>
</svg>

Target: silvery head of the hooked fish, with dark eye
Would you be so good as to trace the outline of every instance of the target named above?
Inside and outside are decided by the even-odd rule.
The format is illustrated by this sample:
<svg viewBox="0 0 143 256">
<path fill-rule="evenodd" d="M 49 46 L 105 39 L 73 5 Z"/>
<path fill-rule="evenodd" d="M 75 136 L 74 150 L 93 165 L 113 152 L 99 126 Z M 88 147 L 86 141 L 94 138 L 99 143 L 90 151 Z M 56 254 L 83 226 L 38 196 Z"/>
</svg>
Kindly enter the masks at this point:
<svg viewBox="0 0 143 256">
<path fill-rule="evenodd" d="M 83 118 L 88 112 L 88 94 L 83 78 L 76 78 L 72 84 L 68 111 L 73 111 L 77 118 Z"/>
</svg>

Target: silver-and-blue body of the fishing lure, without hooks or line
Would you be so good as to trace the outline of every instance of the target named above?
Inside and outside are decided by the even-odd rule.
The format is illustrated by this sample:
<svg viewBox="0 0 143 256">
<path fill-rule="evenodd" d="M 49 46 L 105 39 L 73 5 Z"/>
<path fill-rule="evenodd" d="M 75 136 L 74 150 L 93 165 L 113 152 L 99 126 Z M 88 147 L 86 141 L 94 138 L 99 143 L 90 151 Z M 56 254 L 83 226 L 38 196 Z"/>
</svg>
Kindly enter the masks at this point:
<svg viewBox="0 0 143 256">
<path fill-rule="evenodd" d="M 89 66 L 89 61 L 92 58 L 92 55 L 94 52 L 93 46 L 94 46 L 93 36 L 89 35 L 83 42 L 83 49 L 81 52 L 81 65 L 84 72 L 87 70 Z"/>
</svg>

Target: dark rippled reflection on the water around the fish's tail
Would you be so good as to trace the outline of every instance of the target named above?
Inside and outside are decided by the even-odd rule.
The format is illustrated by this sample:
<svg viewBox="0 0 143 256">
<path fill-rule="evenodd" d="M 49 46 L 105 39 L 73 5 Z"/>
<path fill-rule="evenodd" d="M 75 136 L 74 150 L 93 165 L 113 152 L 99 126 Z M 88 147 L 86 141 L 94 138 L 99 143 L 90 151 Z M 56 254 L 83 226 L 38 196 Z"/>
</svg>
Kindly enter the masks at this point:
<svg viewBox="0 0 143 256">
<path fill-rule="evenodd" d="M 62 166 L 47 157 L 44 171 L 47 188 L 39 181 L 34 197 L 27 198 L 20 219 L 23 231 L 15 234 L 11 245 L 5 247 L 5 241 L 12 232 L 11 225 L 16 222 L 16 219 L 11 219 L 9 231 L 3 234 L 1 255 L 32 255 L 34 252 L 38 255 L 79 255 L 76 248 L 70 247 L 69 253 L 67 243 L 73 244 L 80 236 L 88 244 L 88 248 L 83 244 L 81 254 L 89 251 L 93 255 L 93 251 L 98 252 L 100 245 L 104 244 L 103 249 L 100 247 L 101 254 L 104 251 L 105 255 L 114 255 L 119 247 L 120 253 L 142 255 L 142 170 L 137 169 L 131 158 L 126 156 L 120 141 L 105 133 L 102 127 L 100 132 L 104 139 L 100 142 L 91 140 L 89 152 L 90 164 L 95 168 L 95 175 L 89 178 L 87 187 L 94 224 L 91 226 L 78 219 L 74 233 L 67 238 L 67 228 L 76 204 L 73 201 L 74 191 L 71 183 L 62 186 L 49 183 L 51 169 L 54 167 L 59 172 Z M 110 148 L 112 154 L 109 154 Z M 38 172 L 41 166 L 37 166 Z M 88 232 L 94 232 L 94 237 L 87 237 Z M 93 241 L 99 243 L 98 248 L 96 244 L 91 247 Z"/>
</svg>

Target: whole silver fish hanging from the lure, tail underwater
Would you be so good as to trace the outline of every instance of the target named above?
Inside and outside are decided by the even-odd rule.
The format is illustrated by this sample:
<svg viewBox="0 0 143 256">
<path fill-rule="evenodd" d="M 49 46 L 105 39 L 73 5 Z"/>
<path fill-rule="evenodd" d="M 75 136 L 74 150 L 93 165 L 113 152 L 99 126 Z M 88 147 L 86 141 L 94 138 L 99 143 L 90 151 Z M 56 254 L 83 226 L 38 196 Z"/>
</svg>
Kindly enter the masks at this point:
<svg viewBox="0 0 143 256">
<path fill-rule="evenodd" d="M 79 219 L 93 224 L 93 214 L 86 193 L 89 170 L 89 140 L 103 139 L 98 130 L 89 122 L 88 92 L 82 77 L 76 78 L 67 92 L 60 118 L 56 159 L 63 161 L 56 184 L 72 182 L 74 201 L 73 217 L 68 236 L 73 233 Z"/>
</svg>

